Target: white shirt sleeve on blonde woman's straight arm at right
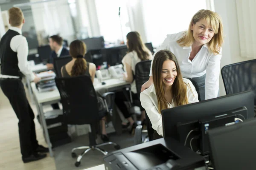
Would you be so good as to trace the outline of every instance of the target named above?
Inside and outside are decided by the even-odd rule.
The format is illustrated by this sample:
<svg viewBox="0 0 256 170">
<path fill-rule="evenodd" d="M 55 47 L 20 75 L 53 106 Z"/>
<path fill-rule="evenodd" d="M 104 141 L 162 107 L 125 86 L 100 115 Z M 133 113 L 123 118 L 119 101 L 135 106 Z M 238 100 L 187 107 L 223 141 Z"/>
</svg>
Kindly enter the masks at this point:
<svg viewBox="0 0 256 170">
<path fill-rule="evenodd" d="M 205 99 L 218 97 L 221 54 L 212 55 L 206 66 Z"/>
</svg>

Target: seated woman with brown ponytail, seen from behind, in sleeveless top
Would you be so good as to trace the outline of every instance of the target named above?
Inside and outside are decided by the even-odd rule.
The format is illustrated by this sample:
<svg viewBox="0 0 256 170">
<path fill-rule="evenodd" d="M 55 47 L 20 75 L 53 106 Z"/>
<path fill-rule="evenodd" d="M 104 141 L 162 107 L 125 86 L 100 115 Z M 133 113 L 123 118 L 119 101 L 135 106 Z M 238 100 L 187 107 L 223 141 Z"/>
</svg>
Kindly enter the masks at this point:
<svg viewBox="0 0 256 170">
<path fill-rule="evenodd" d="M 96 65 L 87 62 L 83 57 L 86 53 L 86 45 L 80 40 L 74 40 L 70 43 L 70 55 L 73 58 L 70 62 L 61 68 L 62 77 L 73 77 L 87 75 L 91 78 L 92 82 L 96 73 Z M 109 138 L 105 128 L 106 117 L 101 120 L 102 135 L 101 139 L 104 142 L 108 142 Z"/>
</svg>

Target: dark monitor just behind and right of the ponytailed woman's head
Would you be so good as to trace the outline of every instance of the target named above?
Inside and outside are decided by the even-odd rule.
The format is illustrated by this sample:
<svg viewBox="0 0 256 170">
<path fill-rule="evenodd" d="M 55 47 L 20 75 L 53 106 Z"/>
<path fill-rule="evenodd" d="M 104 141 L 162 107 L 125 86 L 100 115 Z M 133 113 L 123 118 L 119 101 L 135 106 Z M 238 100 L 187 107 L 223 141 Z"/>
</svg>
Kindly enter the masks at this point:
<svg viewBox="0 0 256 170">
<path fill-rule="evenodd" d="M 104 37 L 92 37 L 82 41 L 86 44 L 87 51 L 100 50 L 105 46 Z"/>
</svg>

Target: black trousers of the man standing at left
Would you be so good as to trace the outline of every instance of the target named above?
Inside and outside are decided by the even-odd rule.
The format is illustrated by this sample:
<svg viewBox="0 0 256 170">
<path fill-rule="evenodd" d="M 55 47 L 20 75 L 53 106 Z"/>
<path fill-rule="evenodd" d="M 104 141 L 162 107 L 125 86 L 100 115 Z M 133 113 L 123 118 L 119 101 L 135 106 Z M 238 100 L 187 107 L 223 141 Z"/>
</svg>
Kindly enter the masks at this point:
<svg viewBox="0 0 256 170">
<path fill-rule="evenodd" d="M 23 158 L 26 158 L 38 147 L 35 134 L 35 115 L 26 98 L 20 79 L 0 79 L 0 87 L 19 119 L 20 150 Z"/>
</svg>

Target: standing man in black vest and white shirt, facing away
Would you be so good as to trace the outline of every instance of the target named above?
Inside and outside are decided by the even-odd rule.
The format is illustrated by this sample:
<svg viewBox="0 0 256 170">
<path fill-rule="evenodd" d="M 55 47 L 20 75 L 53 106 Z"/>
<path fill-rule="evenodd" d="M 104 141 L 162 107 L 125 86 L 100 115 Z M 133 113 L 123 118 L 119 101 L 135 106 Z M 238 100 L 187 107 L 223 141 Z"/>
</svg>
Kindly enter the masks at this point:
<svg viewBox="0 0 256 170">
<path fill-rule="evenodd" d="M 1 74 L 0 87 L 19 119 L 20 150 L 24 163 L 36 161 L 46 157 L 48 148 L 38 144 L 35 134 L 35 115 L 26 98 L 21 79 L 29 77 L 31 81 L 39 82 L 29 68 L 27 62 L 28 43 L 21 35 L 21 28 L 25 23 L 24 15 L 20 8 L 9 9 L 10 29 L 0 41 Z"/>
</svg>

